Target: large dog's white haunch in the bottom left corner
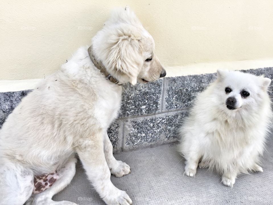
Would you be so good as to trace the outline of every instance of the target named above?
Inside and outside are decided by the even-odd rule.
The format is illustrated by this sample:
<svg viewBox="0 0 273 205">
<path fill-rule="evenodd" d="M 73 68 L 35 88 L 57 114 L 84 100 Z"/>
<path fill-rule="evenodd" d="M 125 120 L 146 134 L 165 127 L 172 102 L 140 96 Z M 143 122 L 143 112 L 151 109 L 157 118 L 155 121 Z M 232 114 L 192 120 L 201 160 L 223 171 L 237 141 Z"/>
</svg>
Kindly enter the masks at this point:
<svg viewBox="0 0 273 205">
<path fill-rule="evenodd" d="M 33 173 L 19 164 L 0 163 L 0 205 L 22 205 L 33 191 Z"/>
</svg>

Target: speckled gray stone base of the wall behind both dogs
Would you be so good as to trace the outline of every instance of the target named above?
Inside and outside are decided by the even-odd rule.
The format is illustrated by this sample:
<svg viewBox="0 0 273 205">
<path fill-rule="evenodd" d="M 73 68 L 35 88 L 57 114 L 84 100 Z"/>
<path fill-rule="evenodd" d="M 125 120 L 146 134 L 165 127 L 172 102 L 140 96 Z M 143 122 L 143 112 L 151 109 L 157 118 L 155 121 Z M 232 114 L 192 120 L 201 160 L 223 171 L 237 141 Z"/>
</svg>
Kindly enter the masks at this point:
<svg viewBox="0 0 273 205">
<path fill-rule="evenodd" d="M 273 67 L 243 72 L 273 79 Z M 215 73 L 168 77 L 153 83 L 123 86 L 119 118 L 108 129 L 114 151 L 177 141 L 177 129 L 188 115 L 195 96 Z M 0 93 L 0 128 L 7 116 L 31 90 Z M 273 91 L 270 89 L 273 97 Z"/>
</svg>

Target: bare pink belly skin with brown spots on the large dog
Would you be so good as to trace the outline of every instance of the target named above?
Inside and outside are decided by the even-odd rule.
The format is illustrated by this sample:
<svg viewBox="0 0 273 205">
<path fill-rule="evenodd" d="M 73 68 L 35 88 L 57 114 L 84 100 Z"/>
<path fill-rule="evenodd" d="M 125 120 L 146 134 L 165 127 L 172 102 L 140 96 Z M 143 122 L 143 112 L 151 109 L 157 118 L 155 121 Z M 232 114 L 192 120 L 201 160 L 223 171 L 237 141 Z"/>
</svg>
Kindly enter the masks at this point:
<svg viewBox="0 0 273 205">
<path fill-rule="evenodd" d="M 38 194 L 48 188 L 50 188 L 55 181 L 59 179 L 59 175 L 55 173 L 50 173 L 48 175 L 34 176 L 34 189 L 33 194 Z"/>
</svg>

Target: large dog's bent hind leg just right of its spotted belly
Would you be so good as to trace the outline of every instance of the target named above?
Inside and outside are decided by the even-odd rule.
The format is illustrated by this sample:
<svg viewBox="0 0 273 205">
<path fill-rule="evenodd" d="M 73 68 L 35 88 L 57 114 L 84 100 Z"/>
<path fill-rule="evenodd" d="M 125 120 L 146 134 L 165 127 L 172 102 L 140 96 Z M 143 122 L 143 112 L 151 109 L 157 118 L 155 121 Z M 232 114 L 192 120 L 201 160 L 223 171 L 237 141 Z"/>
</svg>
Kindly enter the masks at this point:
<svg viewBox="0 0 273 205">
<path fill-rule="evenodd" d="M 32 196 L 33 198 L 32 205 L 77 205 L 69 201 L 55 202 L 52 200 L 52 197 L 61 190 L 63 190 L 73 179 L 76 172 L 75 164 L 76 159 L 73 156 L 67 161 L 64 167 L 57 170 L 57 173 L 60 176 L 60 178 L 50 188 L 44 190 L 39 194 Z"/>
</svg>

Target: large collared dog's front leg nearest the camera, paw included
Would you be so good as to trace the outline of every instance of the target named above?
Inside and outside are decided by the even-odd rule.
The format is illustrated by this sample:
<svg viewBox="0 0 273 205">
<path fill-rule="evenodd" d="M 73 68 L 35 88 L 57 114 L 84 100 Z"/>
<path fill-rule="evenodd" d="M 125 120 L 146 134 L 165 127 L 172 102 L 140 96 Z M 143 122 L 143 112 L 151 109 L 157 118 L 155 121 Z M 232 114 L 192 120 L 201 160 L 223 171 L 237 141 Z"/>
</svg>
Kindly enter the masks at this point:
<svg viewBox="0 0 273 205">
<path fill-rule="evenodd" d="M 76 151 L 86 170 L 88 179 L 107 205 L 129 205 L 132 200 L 125 191 L 116 188 L 104 155 L 104 133 L 96 133 L 92 140 L 83 140 Z"/>
</svg>

